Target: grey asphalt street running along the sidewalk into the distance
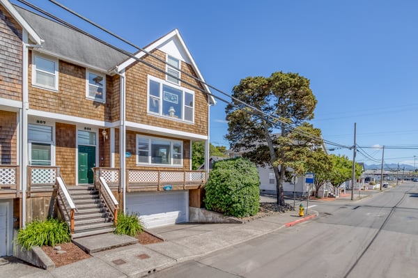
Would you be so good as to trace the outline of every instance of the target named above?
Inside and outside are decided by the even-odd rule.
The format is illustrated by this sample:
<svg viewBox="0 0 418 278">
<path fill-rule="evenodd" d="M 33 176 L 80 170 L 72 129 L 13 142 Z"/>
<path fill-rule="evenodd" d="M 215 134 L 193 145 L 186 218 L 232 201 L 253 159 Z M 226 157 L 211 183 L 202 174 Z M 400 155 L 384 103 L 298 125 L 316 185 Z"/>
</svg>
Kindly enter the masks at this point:
<svg viewBox="0 0 418 278">
<path fill-rule="evenodd" d="M 311 222 L 150 277 L 417 277 L 418 183 L 309 205 Z"/>
</svg>

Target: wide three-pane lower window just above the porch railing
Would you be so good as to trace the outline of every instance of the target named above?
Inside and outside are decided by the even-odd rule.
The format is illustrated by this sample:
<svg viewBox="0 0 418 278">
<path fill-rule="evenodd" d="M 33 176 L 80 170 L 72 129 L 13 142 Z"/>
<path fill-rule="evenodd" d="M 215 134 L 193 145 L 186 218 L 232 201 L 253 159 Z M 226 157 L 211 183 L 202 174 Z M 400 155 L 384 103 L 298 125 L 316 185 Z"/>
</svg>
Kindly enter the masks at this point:
<svg viewBox="0 0 418 278">
<path fill-rule="evenodd" d="M 137 135 L 137 163 L 183 165 L 183 141 Z"/>
</svg>

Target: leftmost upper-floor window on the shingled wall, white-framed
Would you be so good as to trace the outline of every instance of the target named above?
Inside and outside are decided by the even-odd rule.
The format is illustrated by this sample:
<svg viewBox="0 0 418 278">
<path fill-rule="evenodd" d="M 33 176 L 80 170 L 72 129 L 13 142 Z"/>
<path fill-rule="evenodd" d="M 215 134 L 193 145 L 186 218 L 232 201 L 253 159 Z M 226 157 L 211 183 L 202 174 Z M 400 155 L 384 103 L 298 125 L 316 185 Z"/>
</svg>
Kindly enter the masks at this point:
<svg viewBox="0 0 418 278">
<path fill-rule="evenodd" d="M 58 61 L 34 54 L 32 84 L 58 91 Z"/>
</svg>

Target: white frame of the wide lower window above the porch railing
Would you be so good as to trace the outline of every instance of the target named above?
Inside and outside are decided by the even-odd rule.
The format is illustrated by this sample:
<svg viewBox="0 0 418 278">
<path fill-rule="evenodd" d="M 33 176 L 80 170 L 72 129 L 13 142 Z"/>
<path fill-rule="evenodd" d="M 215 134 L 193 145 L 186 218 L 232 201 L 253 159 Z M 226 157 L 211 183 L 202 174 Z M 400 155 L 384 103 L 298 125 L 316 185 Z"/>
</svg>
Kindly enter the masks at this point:
<svg viewBox="0 0 418 278">
<path fill-rule="evenodd" d="M 139 139 L 146 139 L 148 140 L 148 162 L 139 162 Z M 162 164 L 162 163 L 152 163 L 152 142 L 153 140 L 158 140 L 158 141 L 166 141 L 167 143 L 170 144 L 170 164 Z M 173 151 L 173 145 L 174 144 L 180 144 L 181 145 L 181 157 L 180 157 L 180 161 L 181 164 L 174 164 L 174 151 Z M 150 136 L 144 136 L 144 135 L 140 135 L 137 134 L 137 145 L 136 145 L 136 156 L 137 156 L 137 165 L 148 165 L 148 166 L 159 166 L 159 167 L 183 167 L 183 161 L 184 161 L 184 144 L 183 141 L 180 140 L 172 140 L 172 139 L 165 139 L 165 138 L 160 138 L 160 137 L 150 137 Z"/>
</svg>

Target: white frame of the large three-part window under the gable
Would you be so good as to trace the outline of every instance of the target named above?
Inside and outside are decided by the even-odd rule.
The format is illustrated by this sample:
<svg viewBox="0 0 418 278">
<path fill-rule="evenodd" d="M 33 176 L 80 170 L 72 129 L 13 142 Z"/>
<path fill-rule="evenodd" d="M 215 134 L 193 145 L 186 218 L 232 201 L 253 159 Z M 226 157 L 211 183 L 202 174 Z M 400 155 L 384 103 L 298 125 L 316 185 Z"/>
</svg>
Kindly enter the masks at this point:
<svg viewBox="0 0 418 278">
<path fill-rule="evenodd" d="M 151 80 L 153 82 L 160 83 L 160 96 L 158 97 L 158 99 L 159 99 L 159 101 L 158 101 L 159 102 L 159 109 L 158 109 L 159 112 L 158 113 L 155 113 L 153 111 L 150 111 L 150 98 L 151 98 L 151 95 L 150 95 L 150 81 Z M 151 75 L 148 75 L 148 82 L 147 83 L 148 84 L 147 84 L 147 106 L 146 107 L 147 107 L 147 111 L 148 111 L 148 114 L 149 115 L 161 116 L 161 117 L 164 117 L 164 118 L 168 118 L 170 120 L 173 120 L 173 121 L 181 121 L 181 122 L 184 122 L 184 123 L 194 123 L 194 111 L 195 111 L 195 107 L 196 107 L 196 102 L 195 102 L 195 98 L 194 98 L 194 91 L 189 90 L 187 88 L 184 88 L 182 86 L 176 86 L 175 84 L 169 83 L 169 82 L 167 82 L 165 80 L 162 80 L 162 79 L 157 78 L 157 77 L 153 77 Z M 163 102 L 164 102 L 164 99 L 163 99 L 163 93 L 164 93 L 163 86 L 169 86 L 171 88 L 175 88 L 177 90 L 182 91 L 182 104 L 183 105 L 182 105 L 182 111 L 181 111 L 181 115 L 182 115 L 181 118 L 178 118 L 178 117 L 174 118 L 174 117 L 171 117 L 169 115 L 164 115 L 164 113 L 162 111 L 162 105 L 163 105 Z M 193 97 L 193 107 L 189 107 L 189 105 L 186 105 L 185 104 L 185 95 L 186 95 L 186 93 L 189 93 L 189 94 L 192 95 L 192 97 Z M 153 98 L 155 98 L 154 95 L 153 95 Z M 192 111 L 192 121 L 189 121 L 189 120 L 186 120 L 185 119 L 185 107 L 192 108 L 192 110 L 193 110 Z"/>
</svg>

